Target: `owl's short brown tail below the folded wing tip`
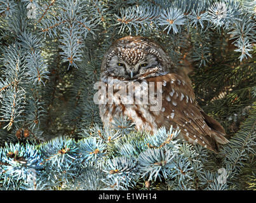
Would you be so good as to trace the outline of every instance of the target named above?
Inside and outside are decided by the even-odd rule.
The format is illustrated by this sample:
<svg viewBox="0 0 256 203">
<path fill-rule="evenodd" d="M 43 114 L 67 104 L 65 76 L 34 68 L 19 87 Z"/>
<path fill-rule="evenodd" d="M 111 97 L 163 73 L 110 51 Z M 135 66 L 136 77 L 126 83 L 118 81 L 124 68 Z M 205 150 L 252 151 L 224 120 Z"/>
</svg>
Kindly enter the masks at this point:
<svg viewBox="0 0 256 203">
<path fill-rule="evenodd" d="M 206 124 L 212 129 L 213 133 L 211 134 L 211 136 L 213 136 L 213 140 L 215 140 L 217 143 L 220 144 L 226 144 L 229 142 L 229 140 L 227 140 L 225 138 L 225 130 L 224 128 L 220 125 L 220 123 L 218 121 L 215 121 L 215 119 L 213 119 L 212 117 L 210 117 L 209 115 L 205 114 L 205 112 L 200 111 L 201 115 L 203 115 L 203 118 L 206 122 Z M 216 145 L 217 147 L 217 145 Z"/>
</svg>

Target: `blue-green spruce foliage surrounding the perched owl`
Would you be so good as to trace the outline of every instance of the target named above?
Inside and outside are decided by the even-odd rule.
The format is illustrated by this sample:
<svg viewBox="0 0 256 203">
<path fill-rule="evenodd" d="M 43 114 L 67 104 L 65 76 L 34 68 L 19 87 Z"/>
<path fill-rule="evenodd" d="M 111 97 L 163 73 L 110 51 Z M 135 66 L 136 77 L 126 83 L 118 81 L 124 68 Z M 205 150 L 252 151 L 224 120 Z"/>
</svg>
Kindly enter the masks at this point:
<svg viewBox="0 0 256 203">
<path fill-rule="evenodd" d="M 255 15 L 252 0 L 0 0 L 0 190 L 255 190 Z M 127 35 L 192 70 L 219 154 L 172 128 L 102 127 L 93 84 Z"/>
</svg>

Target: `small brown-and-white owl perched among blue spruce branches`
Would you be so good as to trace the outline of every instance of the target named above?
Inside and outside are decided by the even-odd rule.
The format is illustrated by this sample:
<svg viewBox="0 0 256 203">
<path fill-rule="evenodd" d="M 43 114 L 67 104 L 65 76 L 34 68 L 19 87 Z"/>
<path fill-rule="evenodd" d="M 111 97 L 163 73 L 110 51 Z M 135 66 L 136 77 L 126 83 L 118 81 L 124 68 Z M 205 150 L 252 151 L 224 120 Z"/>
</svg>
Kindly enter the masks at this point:
<svg viewBox="0 0 256 203">
<path fill-rule="evenodd" d="M 103 57 L 100 79 L 106 95 L 99 112 L 106 127 L 114 117 L 128 117 L 138 131 L 154 134 L 173 126 L 180 130 L 177 138 L 215 153 L 228 142 L 224 128 L 199 107 L 184 69 L 175 67 L 166 51 L 147 37 L 115 41 Z"/>
</svg>

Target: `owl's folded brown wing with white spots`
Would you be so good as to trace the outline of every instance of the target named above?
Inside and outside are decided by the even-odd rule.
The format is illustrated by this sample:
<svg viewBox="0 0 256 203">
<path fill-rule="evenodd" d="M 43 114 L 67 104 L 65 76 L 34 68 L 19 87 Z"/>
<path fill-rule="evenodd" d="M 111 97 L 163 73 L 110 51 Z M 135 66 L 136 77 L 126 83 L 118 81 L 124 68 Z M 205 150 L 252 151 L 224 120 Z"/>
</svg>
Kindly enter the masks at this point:
<svg viewBox="0 0 256 203">
<path fill-rule="evenodd" d="M 149 82 L 163 82 L 162 108 L 158 127 L 180 129 L 182 138 L 218 152 L 217 143 L 227 143 L 224 128 L 208 116 L 195 101 L 190 80 L 178 74 L 166 74 L 148 78 Z"/>
</svg>

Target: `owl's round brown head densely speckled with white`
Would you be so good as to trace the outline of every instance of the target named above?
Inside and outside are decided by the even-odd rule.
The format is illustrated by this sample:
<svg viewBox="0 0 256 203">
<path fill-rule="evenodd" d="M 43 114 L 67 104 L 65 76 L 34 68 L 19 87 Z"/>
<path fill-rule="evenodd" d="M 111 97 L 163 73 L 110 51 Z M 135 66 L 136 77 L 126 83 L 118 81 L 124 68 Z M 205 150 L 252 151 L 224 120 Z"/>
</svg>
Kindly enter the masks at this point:
<svg viewBox="0 0 256 203">
<path fill-rule="evenodd" d="M 134 81 L 165 75 L 170 70 L 166 52 L 148 38 L 126 36 L 118 39 L 105 53 L 101 66 L 101 79 L 114 77 Z"/>
</svg>

